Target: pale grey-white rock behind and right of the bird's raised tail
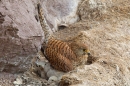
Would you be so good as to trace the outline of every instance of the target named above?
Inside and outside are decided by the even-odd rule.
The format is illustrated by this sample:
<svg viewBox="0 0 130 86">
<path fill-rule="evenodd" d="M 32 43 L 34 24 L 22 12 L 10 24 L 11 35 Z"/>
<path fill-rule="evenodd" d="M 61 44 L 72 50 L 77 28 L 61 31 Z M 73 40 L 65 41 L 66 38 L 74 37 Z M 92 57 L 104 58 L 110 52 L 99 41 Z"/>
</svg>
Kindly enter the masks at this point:
<svg viewBox="0 0 130 86">
<path fill-rule="evenodd" d="M 43 0 L 41 2 L 47 23 L 53 32 L 59 26 L 68 26 L 79 19 L 77 15 L 79 2 L 80 0 Z"/>
</svg>

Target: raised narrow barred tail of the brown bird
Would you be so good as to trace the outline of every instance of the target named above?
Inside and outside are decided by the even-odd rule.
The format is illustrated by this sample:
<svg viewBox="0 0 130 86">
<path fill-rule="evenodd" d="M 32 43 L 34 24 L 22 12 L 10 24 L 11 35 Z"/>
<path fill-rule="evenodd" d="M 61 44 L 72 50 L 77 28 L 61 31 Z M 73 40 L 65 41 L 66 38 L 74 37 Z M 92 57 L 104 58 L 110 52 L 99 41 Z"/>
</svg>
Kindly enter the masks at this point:
<svg viewBox="0 0 130 86">
<path fill-rule="evenodd" d="M 40 24 L 45 35 L 45 42 L 48 42 L 48 39 L 51 37 L 52 32 L 49 26 L 47 25 L 47 22 L 44 17 L 44 12 L 42 10 L 42 6 L 40 5 L 40 3 L 37 4 L 37 8 L 38 8 L 38 16 L 39 16 Z"/>
</svg>

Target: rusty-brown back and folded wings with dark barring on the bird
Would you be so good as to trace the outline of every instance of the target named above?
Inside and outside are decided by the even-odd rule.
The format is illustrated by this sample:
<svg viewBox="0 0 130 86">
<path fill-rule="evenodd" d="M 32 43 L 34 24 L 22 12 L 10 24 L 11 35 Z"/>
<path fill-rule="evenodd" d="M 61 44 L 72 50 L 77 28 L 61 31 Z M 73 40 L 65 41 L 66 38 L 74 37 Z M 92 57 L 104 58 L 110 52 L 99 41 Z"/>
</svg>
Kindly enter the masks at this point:
<svg viewBox="0 0 130 86">
<path fill-rule="evenodd" d="M 48 41 L 44 53 L 53 68 L 64 72 L 73 69 L 73 61 L 77 58 L 66 42 L 55 38 Z"/>
</svg>

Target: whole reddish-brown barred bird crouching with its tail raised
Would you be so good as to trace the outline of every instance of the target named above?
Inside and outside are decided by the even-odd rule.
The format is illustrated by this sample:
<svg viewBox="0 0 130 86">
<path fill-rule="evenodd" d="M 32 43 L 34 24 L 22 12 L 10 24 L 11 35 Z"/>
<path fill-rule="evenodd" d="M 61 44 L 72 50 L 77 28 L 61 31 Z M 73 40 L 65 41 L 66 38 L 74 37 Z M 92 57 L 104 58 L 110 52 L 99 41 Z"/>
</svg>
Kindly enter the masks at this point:
<svg viewBox="0 0 130 86">
<path fill-rule="evenodd" d="M 41 51 L 54 69 L 63 72 L 73 70 L 79 63 L 84 62 L 82 58 L 89 54 L 88 47 L 78 41 L 64 42 L 51 36 L 47 29 L 43 11 L 38 4 L 38 13 L 41 26 L 45 33 L 45 44 L 42 45 Z"/>
</svg>

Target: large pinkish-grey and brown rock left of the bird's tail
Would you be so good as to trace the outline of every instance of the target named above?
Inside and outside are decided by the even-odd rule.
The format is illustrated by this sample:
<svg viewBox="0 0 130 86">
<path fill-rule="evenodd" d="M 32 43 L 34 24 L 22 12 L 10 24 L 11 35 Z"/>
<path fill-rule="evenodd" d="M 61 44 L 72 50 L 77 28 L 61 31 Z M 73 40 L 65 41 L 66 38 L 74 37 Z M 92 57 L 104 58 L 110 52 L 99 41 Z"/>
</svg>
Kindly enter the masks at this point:
<svg viewBox="0 0 130 86">
<path fill-rule="evenodd" d="M 43 31 L 31 0 L 0 1 L 0 71 L 21 72 L 40 49 Z"/>
</svg>

